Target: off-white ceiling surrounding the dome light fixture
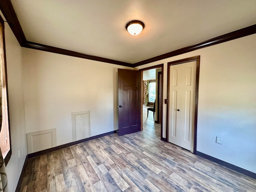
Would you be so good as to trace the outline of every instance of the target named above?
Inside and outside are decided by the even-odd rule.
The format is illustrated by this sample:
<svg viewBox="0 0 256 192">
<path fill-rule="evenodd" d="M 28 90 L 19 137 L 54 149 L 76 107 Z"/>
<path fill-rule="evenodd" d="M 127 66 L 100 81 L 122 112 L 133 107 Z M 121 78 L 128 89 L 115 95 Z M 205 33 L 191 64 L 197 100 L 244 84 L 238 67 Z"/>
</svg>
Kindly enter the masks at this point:
<svg viewBox="0 0 256 192">
<path fill-rule="evenodd" d="M 256 0 L 11 0 L 26 40 L 128 63 L 256 24 Z M 126 31 L 130 20 L 145 28 Z"/>
</svg>

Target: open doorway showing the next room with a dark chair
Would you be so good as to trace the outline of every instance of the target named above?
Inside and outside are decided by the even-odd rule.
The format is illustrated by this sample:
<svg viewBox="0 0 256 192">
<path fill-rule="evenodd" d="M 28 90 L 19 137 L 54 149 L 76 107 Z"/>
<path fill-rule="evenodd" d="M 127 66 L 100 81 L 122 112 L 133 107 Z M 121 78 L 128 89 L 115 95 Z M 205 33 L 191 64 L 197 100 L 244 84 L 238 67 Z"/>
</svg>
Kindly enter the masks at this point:
<svg viewBox="0 0 256 192">
<path fill-rule="evenodd" d="M 142 122 L 147 134 L 162 140 L 163 64 L 142 71 Z"/>
</svg>

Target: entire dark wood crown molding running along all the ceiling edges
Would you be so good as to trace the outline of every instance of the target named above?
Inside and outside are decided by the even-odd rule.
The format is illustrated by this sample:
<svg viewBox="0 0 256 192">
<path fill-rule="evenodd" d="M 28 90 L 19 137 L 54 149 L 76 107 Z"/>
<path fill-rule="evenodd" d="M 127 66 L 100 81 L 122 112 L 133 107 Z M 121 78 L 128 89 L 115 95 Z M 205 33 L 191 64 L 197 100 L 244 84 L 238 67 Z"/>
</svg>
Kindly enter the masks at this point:
<svg viewBox="0 0 256 192">
<path fill-rule="evenodd" d="M 244 37 L 244 36 L 248 36 L 248 35 L 256 33 L 256 24 L 254 24 L 252 26 L 248 26 L 246 28 L 242 28 L 240 30 L 230 32 L 230 33 L 206 40 L 206 41 L 198 43 L 198 44 L 187 46 L 187 47 L 184 47 L 184 48 L 181 48 L 178 50 L 168 52 L 166 54 L 162 54 L 162 55 L 150 58 L 150 59 L 146 59 L 146 60 L 131 64 L 131 63 L 112 60 L 112 59 L 108 59 L 108 58 L 87 55 L 87 54 L 74 52 L 74 51 L 70 51 L 70 50 L 66 50 L 66 49 L 56 48 L 53 46 L 48 46 L 48 45 L 39 44 L 39 43 L 35 43 L 35 42 L 29 42 L 26 40 L 26 37 L 25 37 L 24 32 L 20 26 L 20 22 L 16 16 L 16 13 L 14 11 L 11 1 L 10 0 L 0 0 L 0 9 L 1 9 L 2 13 L 4 14 L 4 17 L 6 18 L 6 21 L 8 22 L 10 28 L 12 29 L 14 36 L 18 40 L 20 46 L 22 46 L 22 47 L 32 48 L 32 49 L 36 49 L 36 50 L 42 50 L 42 51 L 47 51 L 47 52 L 52 52 L 52 53 L 57 53 L 57 54 L 63 54 L 63 55 L 68 55 L 68 56 L 74 56 L 74 57 L 79 57 L 79 58 L 84 58 L 84 59 L 89 59 L 89 60 L 95 60 L 95 61 L 100 61 L 100 62 L 106 62 L 106 63 L 116 64 L 116 65 L 121 65 L 121 66 L 127 66 L 127 67 L 141 66 L 144 64 L 148 64 L 148 63 L 155 62 L 158 60 L 177 56 L 180 54 L 184 54 L 187 52 L 191 52 L 194 50 L 198 50 L 201 48 L 205 48 L 208 46 L 216 45 L 219 43 L 227 42 L 230 40 L 234 40 L 234 39 L 237 39 L 240 37 Z"/>
</svg>

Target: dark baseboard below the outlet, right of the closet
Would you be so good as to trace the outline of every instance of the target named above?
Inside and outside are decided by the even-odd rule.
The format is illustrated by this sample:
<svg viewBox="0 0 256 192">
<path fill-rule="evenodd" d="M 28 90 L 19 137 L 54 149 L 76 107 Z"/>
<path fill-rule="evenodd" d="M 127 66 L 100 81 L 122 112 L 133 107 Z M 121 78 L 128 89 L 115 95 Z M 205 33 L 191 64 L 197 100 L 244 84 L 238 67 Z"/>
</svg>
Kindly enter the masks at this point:
<svg viewBox="0 0 256 192">
<path fill-rule="evenodd" d="M 244 175 L 246 175 L 248 177 L 256 179 L 256 173 L 254 173 L 254 172 L 251 172 L 251 171 L 248 171 L 246 169 L 240 168 L 238 166 L 235 166 L 233 164 L 230 164 L 228 162 L 222 161 L 220 159 L 217 159 L 215 157 L 212 157 L 210 155 L 204 154 L 204 153 L 199 152 L 199 151 L 196 151 L 196 155 L 198 155 L 200 157 L 203 157 L 203 158 L 206 158 L 206 159 L 208 159 L 208 160 L 210 160 L 212 162 L 218 163 L 218 164 L 220 164 L 220 165 L 222 165 L 224 167 L 230 168 L 230 169 L 232 169 L 232 170 L 234 170 L 236 172 L 242 173 L 242 174 L 244 174 Z"/>
</svg>

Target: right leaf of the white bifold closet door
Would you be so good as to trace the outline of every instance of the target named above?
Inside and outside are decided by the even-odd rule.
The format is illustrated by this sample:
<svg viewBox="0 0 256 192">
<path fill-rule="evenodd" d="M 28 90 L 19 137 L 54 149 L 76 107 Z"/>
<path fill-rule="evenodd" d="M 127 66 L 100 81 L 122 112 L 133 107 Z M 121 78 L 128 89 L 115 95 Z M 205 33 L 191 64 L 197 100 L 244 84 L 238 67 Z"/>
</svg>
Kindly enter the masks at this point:
<svg viewBox="0 0 256 192">
<path fill-rule="evenodd" d="M 182 64 L 180 146 L 193 151 L 196 61 Z"/>
</svg>

